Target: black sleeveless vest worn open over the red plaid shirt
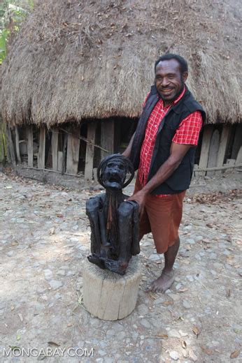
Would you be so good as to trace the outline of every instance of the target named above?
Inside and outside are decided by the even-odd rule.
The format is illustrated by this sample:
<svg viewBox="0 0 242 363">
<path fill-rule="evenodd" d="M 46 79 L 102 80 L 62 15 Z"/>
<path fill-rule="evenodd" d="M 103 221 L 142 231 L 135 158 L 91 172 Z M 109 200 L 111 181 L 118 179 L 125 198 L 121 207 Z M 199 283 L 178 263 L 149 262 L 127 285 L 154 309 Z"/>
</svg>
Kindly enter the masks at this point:
<svg viewBox="0 0 242 363">
<path fill-rule="evenodd" d="M 145 137 L 145 128 L 150 114 L 159 101 L 159 94 L 155 86 L 151 87 L 150 95 L 145 103 L 145 107 L 138 121 L 136 133 L 131 147 L 130 159 L 134 164 L 135 170 L 138 169 L 141 147 Z M 194 100 L 189 89 L 186 87 L 184 96 L 176 105 L 173 105 L 166 113 L 165 117 L 159 124 L 155 147 L 152 154 L 148 181 L 156 174 L 160 166 L 169 158 L 170 148 L 173 136 L 180 123 L 189 114 L 195 111 L 200 111 L 203 121 L 206 120 L 204 109 Z M 194 156 L 196 147 L 191 147 L 185 154 L 178 168 L 173 174 L 166 179 L 164 183 L 157 186 L 151 194 L 175 194 L 185 191 L 190 186 L 192 172 L 194 168 Z"/>
</svg>

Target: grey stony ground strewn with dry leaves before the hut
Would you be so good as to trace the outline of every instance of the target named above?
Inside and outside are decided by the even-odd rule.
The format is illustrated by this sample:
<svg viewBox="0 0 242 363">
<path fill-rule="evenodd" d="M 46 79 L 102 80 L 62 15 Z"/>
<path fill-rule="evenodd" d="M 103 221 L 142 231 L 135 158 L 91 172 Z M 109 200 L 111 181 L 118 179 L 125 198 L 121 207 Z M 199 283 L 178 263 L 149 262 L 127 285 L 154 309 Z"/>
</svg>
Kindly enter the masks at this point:
<svg viewBox="0 0 242 363">
<path fill-rule="evenodd" d="M 194 179 L 175 283 L 165 294 L 146 292 L 163 265 L 148 235 L 136 309 L 113 323 L 90 316 L 82 298 L 85 200 L 97 191 L 0 172 L 0 362 L 240 362 L 240 177 Z M 36 350 L 6 357 L 16 346 Z M 55 357 L 33 357 L 47 348 Z"/>
</svg>

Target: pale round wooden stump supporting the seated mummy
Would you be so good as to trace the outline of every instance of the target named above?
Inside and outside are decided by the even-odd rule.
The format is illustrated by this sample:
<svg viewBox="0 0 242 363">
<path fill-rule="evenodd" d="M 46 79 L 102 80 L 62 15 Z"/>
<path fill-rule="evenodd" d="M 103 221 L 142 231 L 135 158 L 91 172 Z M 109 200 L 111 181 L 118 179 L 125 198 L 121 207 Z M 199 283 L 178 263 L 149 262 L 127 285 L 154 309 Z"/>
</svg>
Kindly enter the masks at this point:
<svg viewBox="0 0 242 363">
<path fill-rule="evenodd" d="M 86 261 L 83 270 L 83 302 L 87 311 L 103 320 L 119 320 L 135 308 L 141 280 L 141 263 L 133 256 L 124 276 Z"/>
</svg>

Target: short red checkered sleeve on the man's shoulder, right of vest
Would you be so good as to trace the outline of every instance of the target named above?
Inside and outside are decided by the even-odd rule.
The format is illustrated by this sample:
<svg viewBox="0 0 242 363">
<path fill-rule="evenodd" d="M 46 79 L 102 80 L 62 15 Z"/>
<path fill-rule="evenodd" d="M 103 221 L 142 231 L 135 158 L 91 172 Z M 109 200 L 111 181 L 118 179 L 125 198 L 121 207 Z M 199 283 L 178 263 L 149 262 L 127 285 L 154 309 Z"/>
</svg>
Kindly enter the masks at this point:
<svg viewBox="0 0 242 363">
<path fill-rule="evenodd" d="M 189 114 L 180 123 L 172 142 L 176 142 L 176 144 L 197 145 L 202 124 L 203 119 L 200 111 Z"/>
</svg>

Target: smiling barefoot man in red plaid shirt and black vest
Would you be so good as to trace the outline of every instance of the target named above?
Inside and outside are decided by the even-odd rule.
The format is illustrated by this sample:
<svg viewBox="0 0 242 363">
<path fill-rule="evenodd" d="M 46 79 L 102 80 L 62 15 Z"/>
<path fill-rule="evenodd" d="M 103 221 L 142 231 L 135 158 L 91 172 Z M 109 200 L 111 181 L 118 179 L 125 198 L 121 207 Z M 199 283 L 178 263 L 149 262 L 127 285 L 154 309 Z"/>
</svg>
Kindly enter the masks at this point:
<svg viewBox="0 0 242 363">
<path fill-rule="evenodd" d="M 177 54 L 165 54 L 155 62 L 155 85 L 123 153 L 138 168 L 134 194 L 128 200 L 139 205 L 139 237 L 152 232 L 157 253 L 164 253 L 164 269 L 151 286 L 155 292 L 166 291 L 174 281 L 183 198 L 206 118 L 185 86 L 187 76 L 187 62 Z"/>
</svg>

